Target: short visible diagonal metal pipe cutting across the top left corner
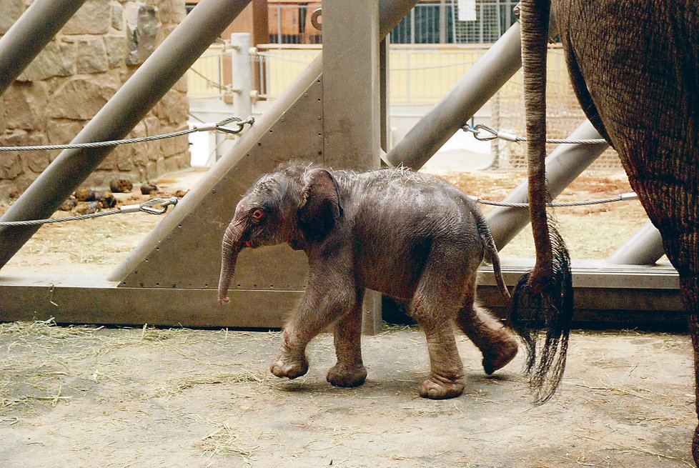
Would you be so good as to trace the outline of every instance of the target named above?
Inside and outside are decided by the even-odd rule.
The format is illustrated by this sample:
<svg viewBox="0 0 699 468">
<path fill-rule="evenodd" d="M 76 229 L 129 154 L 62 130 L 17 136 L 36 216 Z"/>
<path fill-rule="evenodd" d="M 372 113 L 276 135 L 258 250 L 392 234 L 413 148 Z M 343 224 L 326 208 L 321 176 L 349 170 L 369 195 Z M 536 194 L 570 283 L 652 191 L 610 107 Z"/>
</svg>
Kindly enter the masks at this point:
<svg viewBox="0 0 699 468">
<path fill-rule="evenodd" d="M 0 95 L 49 44 L 85 0 L 36 0 L 0 38 Z"/>
</svg>

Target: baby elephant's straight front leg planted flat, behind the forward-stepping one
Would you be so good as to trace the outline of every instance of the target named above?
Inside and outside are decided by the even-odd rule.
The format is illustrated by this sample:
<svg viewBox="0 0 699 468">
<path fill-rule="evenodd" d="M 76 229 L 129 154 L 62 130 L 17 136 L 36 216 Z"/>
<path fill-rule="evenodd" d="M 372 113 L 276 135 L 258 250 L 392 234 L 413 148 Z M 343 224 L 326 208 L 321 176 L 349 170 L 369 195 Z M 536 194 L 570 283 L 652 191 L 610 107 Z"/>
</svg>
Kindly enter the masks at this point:
<svg viewBox="0 0 699 468">
<path fill-rule="evenodd" d="M 362 302 L 364 289 L 357 289 L 355 307 L 334 324 L 337 364 L 327 372 L 327 381 L 335 387 L 357 387 L 367 379 L 362 362 Z"/>
</svg>

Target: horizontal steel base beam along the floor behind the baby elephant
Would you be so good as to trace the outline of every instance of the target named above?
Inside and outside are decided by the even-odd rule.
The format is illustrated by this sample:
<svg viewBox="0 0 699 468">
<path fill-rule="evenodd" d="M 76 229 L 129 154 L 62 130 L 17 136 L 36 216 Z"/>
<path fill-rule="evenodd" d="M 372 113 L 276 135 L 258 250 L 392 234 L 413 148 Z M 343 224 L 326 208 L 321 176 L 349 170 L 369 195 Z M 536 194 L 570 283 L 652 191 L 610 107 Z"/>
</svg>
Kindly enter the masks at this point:
<svg viewBox="0 0 699 468">
<path fill-rule="evenodd" d="M 532 267 L 505 263 L 506 284 L 515 284 Z M 490 272 L 490 274 L 488 273 Z M 492 269 L 484 267 L 478 285 L 482 305 L 501 317 L 505 307 Z M 668 320 L 686 323 L 678 274 L 667 267 L 609 267 L 604 262 L 573 262 L 575 321 L 613 322 L 638 327 Z M 152 324 L 173 327 L 280 328 L 303 295 L 297 290 L 232 289 L 231 307 L 217 307 L 217 292 L 207 288 L 117 287 L 94 275 L 0 274 L 0 321 L 48 319 L 59 323 Z"/>
</svg>

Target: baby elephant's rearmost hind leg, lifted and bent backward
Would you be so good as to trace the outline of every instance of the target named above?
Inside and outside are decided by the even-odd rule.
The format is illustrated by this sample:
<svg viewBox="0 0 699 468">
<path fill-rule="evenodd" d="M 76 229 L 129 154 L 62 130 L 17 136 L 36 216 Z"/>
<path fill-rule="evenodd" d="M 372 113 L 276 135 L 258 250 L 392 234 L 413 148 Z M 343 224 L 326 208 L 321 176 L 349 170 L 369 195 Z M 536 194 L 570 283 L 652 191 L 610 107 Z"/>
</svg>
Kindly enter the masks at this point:
<svg viewBox="0 0 699 468">
<path fill-rule="evenodd" d="M 475 303 L 475 275 L 467 286 L 464 307 L 457 317 L 459 328 L 483 354 L 483 369 L 490 375 L 517 355 L 517 340 L 510 329 Z"/>
</svg>

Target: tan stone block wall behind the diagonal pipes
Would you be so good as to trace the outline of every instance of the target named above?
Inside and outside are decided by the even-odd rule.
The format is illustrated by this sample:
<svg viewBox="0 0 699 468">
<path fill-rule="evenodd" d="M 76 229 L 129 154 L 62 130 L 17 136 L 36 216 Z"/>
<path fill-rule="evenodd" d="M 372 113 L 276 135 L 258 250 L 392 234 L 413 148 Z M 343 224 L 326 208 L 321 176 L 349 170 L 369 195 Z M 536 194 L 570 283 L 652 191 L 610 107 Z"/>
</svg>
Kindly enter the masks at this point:
<svg viewBox="0 0 699 468">
<path fill-rule="evenodd" d="M 0 1 L 5 34 L 31 0 Z M 0 145 L 69 143 L 184 18 L 184 0 L 88 0 L 0 99 Z M 181 79 L 129 137 L 187 127 Z M 189 166 L 187 136 L 111 152 L 84 185 L 145 181 Z M 3 153 L 0 200 L 26 189 L 59 151 Z"/>
</svg>

